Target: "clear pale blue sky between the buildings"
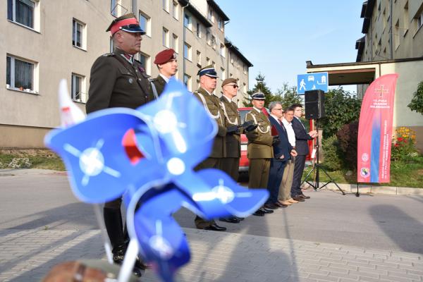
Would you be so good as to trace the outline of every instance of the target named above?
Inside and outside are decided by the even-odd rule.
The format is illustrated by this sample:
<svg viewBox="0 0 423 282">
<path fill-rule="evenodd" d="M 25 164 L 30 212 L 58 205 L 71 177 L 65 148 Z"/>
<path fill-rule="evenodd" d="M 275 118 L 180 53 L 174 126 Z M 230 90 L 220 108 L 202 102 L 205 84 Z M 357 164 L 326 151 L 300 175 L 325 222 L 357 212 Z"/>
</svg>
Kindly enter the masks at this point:
<svg viewBox="0 0 423 282">
<path fill-rule="evenodd" d="M 272 92 L 297 85 L 316 64 L 355 62 L 363 34 L 359 0 L 215 0 L 230 21 L 225 36 L 254 66 L 250 89 L 262 73 Z M 355 92 L 349 85 L 345 90 Z"/>
</svg>

